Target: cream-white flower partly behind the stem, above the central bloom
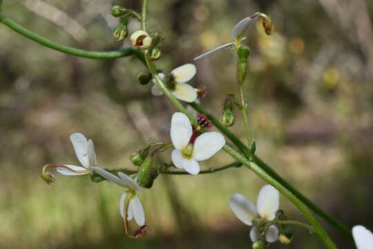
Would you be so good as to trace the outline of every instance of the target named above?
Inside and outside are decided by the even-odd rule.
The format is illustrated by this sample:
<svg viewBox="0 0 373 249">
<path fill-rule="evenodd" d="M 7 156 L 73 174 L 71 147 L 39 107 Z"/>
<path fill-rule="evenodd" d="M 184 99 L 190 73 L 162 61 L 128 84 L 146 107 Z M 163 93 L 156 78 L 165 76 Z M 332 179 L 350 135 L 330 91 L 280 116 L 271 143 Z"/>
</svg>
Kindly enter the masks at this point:
<svg viewBox="0 0 373 249">
<path fill-rule="evenodd" d="M 187 84 L 191 80 L 197 69 L 193 64 L 185 64 L 183 66 L 179 66 L 178 68 L 173 69 L 171 71 L 169 79 L 170 83 L 173 84 L 173 87 L 169 88 L 171 93 L 175 95 L 176 98 L 185 102 L 194 102 L 197 98 L 197 91 L 193 88 L 193 86 Z M 164 73 L 158 73 L 158 77 L 161 80 L 165 80 L 166 75 Z M 153 79 L 153 88 L 151 89 L 151 93 L 155 96 L 162 95 L 162 90 L 157 86 L 155 80 Z M 167 84 L 167 82 L 166 82 Z"/>
</svg>

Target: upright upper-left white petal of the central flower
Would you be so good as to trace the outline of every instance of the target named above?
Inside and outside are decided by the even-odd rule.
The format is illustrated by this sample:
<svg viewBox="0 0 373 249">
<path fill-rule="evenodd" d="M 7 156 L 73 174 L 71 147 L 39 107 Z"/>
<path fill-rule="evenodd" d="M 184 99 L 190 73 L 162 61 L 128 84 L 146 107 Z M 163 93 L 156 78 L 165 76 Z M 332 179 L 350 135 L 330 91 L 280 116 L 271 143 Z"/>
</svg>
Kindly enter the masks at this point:
<svg viewBox="0 0 373 249">
<path fill-rule="evenodd" d="M 173 113 L 171 119 L 171 140 L 176 149 L 184 149 L 191 140 L 192 126 L 189 118 L 180 112 Z"/>
</svg>

